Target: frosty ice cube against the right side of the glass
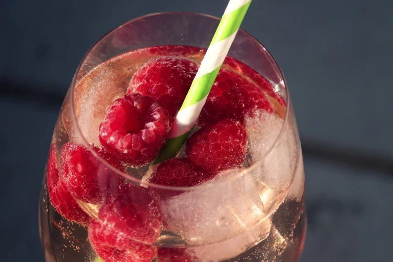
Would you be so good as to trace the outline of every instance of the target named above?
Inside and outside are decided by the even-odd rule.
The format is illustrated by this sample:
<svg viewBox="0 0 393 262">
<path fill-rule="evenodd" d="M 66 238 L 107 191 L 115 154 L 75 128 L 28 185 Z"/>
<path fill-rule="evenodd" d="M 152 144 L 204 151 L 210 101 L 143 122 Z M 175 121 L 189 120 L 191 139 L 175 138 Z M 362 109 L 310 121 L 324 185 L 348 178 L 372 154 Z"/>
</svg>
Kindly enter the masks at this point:
<svg viewBox="0 0 393 262">
<path fill-rule="evenodd" d="M 251 165 L 257 163 L 257 170 L 253 172 L 256 179 L 274 190 L 287 188 L 294 175 L 298 155 L 291 116 L 285 125 L 278 115 L 266 111 L 257 111 L 246 119 L 250 156 L 247 160 Z"/>
</svg>

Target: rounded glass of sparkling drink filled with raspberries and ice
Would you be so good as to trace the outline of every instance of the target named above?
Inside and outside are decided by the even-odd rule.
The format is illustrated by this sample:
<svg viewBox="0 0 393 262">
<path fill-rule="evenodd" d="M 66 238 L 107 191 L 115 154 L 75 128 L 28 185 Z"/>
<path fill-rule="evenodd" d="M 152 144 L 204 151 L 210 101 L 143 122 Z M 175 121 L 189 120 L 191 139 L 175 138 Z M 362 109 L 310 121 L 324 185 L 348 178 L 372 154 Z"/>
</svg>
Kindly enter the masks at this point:
<svg viewBox="0 0 393 262">
<path fill-rule="evenodd" d="M 299 260 L 306 216 L 296 120 L 278 65 L 247 33 L 239 31 L 186 145 L 150 165 L 217 23 L 150 15 L 87 53 L 43 182 L 47 261 Z"/>
</svg>

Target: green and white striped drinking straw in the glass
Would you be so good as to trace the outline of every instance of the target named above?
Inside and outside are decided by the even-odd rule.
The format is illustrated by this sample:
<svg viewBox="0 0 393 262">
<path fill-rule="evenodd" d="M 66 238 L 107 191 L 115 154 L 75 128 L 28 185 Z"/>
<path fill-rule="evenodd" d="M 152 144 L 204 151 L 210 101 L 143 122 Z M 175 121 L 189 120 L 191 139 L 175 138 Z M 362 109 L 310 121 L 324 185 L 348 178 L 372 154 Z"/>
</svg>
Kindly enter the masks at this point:
<svg viewBox="0 0 393 262">
<path fill-rule="evenodd" d="M 230 0 L 198 72 L 153 165 L 176 156 L 199 118 L 202 107 L 235 39 L 251 0 Z"/>
</svg>

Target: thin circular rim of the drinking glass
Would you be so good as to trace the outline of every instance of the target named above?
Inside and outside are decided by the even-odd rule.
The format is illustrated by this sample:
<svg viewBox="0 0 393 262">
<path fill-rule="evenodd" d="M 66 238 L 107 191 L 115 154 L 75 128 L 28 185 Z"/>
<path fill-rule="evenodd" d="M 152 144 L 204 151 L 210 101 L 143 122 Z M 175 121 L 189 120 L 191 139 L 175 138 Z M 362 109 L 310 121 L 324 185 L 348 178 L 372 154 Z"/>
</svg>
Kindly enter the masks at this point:
<svg viewBox="0 0 393 262">
<path fill-rule="evenodd" d="M 83 133 L 81 132 L 81 129 L 80 129 L 80 127 L 79 127 L 79 123 L 78 123 L 78 120 L 77 120 L 77 117 L 76 117 L 76 114 L 75 114 L 75 107 L 74 107 L 74 88 L 75 88 L 75 83 L 76 83 L 76 77 L 77 77 L 77 75 L 78 75 L 80 69 L 82 68 L 82 65 L 83 65 L 84 61 L 86 60 L 86 58 L 87 58 L 88 55 L 90 54 L 91 50 L 92 50 L 94 47 L 96 47 L 97 44 L 99 44 L 100 41 L 101 41 L 102 39 L 104 39 L 106 36 L 108 36 L 109 34 L 111 34 L 112 32 L 114 32 L 116 29 L 121 28 L 122 26 L 125 26 L 125 25 L 128 25 L 128 24 L 130 24 L 130 23 L 139 21 L 139 20 L 141 20 L 141 19 L 146 19 L 146 18 L 149 18 L 149 17 L 160 16 L 160 15 L 168 15 L 168 14 L 196 15 L 196 16 L 199 16 L 199 17 L 202 17 L 202 18 L 214 19 L 214 20 L 216 20 L 216 21 L 220 21 L 220 20 L 221 20 L 220 18 L 211 16 L 211 15 L 206 15 L 206 14 L 201 14 L 201 13 L 192 13 L 192 12 L 162 12 L 162 13 L 152 13 L 152 14 L 148 14 L 148 15 L 144 15 L 144 16 L 140 16 L 140 17 L 137 17 L 137 18 L 128 20 L 128 21 L 126 21 L 126 22 L 120 24 L 119 26 L 113 28 L 113 29 L 110 30 L 109 32 L 107 32 L 105 35 L 103 35 L 99 40 L 97 40 L 97 41 L 87 50 L 87 52 L 85 53 L 85 55 L 84 55 L 83 58 L 81 59 L 79 65 L 78 65 L 78 67 L 77 67 L 77 69 L 76 69 L 76 71 L 75 71 L 74 77 L 72 78 L 71 85 L 70 85 L 70 96 L 71 96 L 71 97 L 70 97 L 70 100 L 71 100 L 70 103 L 71 103 L 71 111 L 72 111 L 71 117 L 73 118 L 73 119 L 72 119 L 72 122 L 75 123 L 74 128 L 76 129 L 76 132 L 79 133 L 79 134 L 81 135 L 81 140 L 83 141 L 84 146 L 86 146 L 86 147 L 89 149 L 89 151 L 94 155 L 94 157 L 96 157 L 100 162 L 103 162 L 109 169 L 111 169 L 112 171 L 114 171 L 114 172 L 117 173 L 118 175 L 123 176 L 124 178 L 126 178 L 126 179 L 129 180 L 130 182 L 132 182 L 132 183 L 134 183 L 134 184 L 136 184 L 136 185 L 139 185 L 139 186 L 152 187 L 152 188 L 158 188 L 158 189 L 164 189 L 164 190 L 173 190 L 173 191 L 184 191 L 184 192 L 187 192 L 187 191 L 198 190 L 198 189 L 201 189 L 201 188 L 208 188 L 208 187 L 215 186 L 215 185 L 217 185 L 217 184 L 224 184 L 224 183 L 228 183 L 229 181 L 232 181 L 232 180 L 235 180 L 235 179 L 239 179 L 239 178 L 243 177 L 244 175 L 247 175 L 248 173 L 250 173 L 252 170 L 258 168 L 258 166 L 261 164 L 261 162 L 263 162 L 264 159 L 265 159 L 271 152 L 273 152 L 273 150 L 274 150 L 275 147 L 277 146 L 277 141 L 283 136 L 285 127 L 286 127 L 286 125 L 288 124 L 288 116 L 289 116 L 289 112 L 290 112 L 289 109 L 291 108 L 291 99 L 290 99 L 290 97 L 289 97 L 289 91 L 288 91 L 288 87 L 287 87 L 287 82 L 286 82 L 284 73 L 283 73 L 283 71 L 282 71 L 280 65 L 277 63 L 276 59 L 273 57 L 273 55 L 269 52 L 269 50 L 268 50 L 263 44 L 261 44 L 255 37 L 253 37 L 251 34 L 249 34 L 247 31 L 245 31 L 244 29 L 241 29 L 241 28 L 239 29 L 239 31 L 245 33 L 246 35 L 248 35 L 249 37 L 251 37 L 251 39 L 253 39 L 254 41 L 256 41 L 261 47 L 263 47 L 264 51 L 266 51 L 266 53 L 269 55 L 269 57 L 274 61 L 275 66 L 277 66 L 277 68 L 278 68 L 278 70 L 279 70 L 279 73 L 280 73 L 280 76 L 281 76 L 281 78 L 282 78 L 282 79 L 281 79 L 281 82 L 282 82 L 281 84 L 283 84 L 284 87 L 286 87 L 286 88 L 285 88 L 286 97 L 285 97 L 285 98 L 283 97 L 283 99 L 284 99 L 285 102 L 286 102 L 285 116 L 284 116 L 284 119 L 283 119 L 284 121 L 283 121 L 283 125 L 281 126 L 280 132 L 278 133 L 278 136 L 276 137 L 276 139 L 275 139 L 273 145 L 272 145 L 271 148 L 267 151 L 267 153 L 266 153 L 263 157 L 261 157 L 261 158 L 259 158 L 257 161 L 255 161 L 255 162 L 254 162 L 252 165 L 250 165 L 249 167 L 245 168 L 244 170 L 242 170 L 241 172 L 237 173 L 236 175 L 233 175 L 233 176 L 231 176 L 231 177 L 229 177 L 229 178 L 225 178 L 225 179 L 220 180 L 220 181 L 214 181 L 214 182 L 212 182 L 212 183 L 207 183 L 207 184 L 202 183 L 202 184 L 199 184 L 199 185 L 196 185 L 196 186 L 192 186 L 192 187 L 164 186 L 164 185 L 160 185 L 160 184 L 155 184 L 155 183 L 151 183 L 151 182 L 142 181 L 142 179 L 139 179 L 139 178 L 130 176 L 129 174 L 127 174 L 127 173 L 125 173 L 125 172 L 122 172 L 122 171 L 120 171 L 120 170 L 114 168 L 112 165 L 110 165 L 106 160 L 104 160 L 103 158 L 101 158 L 101 157 L 93 150 L 92 146 L 91 146 L 89 143 L 87 143 L 85 137 L 83 136 Z M 121 55 L 121 54 L 120 54 L 120 55 Z M 119 56 L 119 55 L 116 55 L 115 57 L 117 57 L 117 56 Z M 112 58 L 111 58 L 111 59 L 112 59 Z M 270 81 L 269 81 L 269 82 L 270 82 Z M 271 83 L 271 84 L 272 84 L 272 83 Z M 273 85 L 273 84 L 272 84 L 272 85 Z M 274 87 L 274 85 L 273 85 L 273 87 Z M 275 87 L 274 87 L 274 88 L 275 88 Z M 289 189 L 291 188 L 291 186 L 292 186 L 292 184 L 293 184 L 296 170 L 297 170 L 297 167 L 295 168 L 295 170 L 294 170 L 294 172 L 293 172 L 293 174 L 292 174 L 291 182 L 288 184 L 288 186 L 287 186 L 285 189 L 280 190 L 281 192 L 288 192 L 288 191 L 289 191 Z M 265 186 L 266 186 L 266 185 L 265 185 Z M 267 186 L 267 187 L 268 187 L 268 186 Z M 268 187 L 268 188 L 269 188 L 269 187 Z M 280 194 L 280 195 L 281 195 L 281 194 Z M 285 195 L 286 195 L 286 194 L 284 194 L 284 196 L 285 196 Z"/>
</svg>

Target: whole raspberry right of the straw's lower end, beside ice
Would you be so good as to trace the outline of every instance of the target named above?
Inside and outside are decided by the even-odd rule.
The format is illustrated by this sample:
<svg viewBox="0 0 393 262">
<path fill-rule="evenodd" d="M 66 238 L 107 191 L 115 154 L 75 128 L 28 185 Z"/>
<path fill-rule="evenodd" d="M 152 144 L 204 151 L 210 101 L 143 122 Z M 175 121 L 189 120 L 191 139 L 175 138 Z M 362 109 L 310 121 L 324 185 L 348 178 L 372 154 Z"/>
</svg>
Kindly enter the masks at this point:
<svg viewBox="0 0 393 262">
<path fill-rule="evenodd" d="M 245 128 L 227 118 L 195 132 L 187 140 L 186 154 L 200 168 L 220 172 L 244 162 L 246 142 Z"/>
</svg>

